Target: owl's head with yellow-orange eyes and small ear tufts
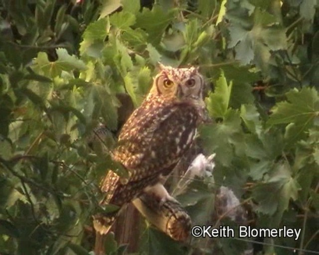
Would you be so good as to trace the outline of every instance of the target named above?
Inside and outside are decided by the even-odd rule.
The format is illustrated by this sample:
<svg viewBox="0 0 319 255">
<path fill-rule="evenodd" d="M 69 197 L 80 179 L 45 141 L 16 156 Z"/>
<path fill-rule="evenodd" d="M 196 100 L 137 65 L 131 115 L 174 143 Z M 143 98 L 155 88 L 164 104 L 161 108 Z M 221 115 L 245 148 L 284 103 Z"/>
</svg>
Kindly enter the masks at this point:
<svg viewBox="0 0 319 255">
<path fill-rule="evenodd" d="M 177 99 L 202 100 L 204 79 L 198 68 L 173 68 L 160 64 L 150 94 L 176 97 Z"/>
</svg>

